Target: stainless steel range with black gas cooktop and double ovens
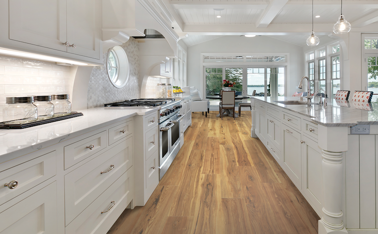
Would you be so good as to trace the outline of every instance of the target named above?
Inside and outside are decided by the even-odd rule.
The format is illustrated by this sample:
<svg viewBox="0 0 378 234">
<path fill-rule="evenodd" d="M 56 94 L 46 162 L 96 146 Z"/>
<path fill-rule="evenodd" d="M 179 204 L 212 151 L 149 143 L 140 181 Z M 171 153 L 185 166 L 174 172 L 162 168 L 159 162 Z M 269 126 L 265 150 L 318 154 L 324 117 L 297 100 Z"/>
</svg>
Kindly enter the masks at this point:
<svg viewBox="0 0 378 234">
<path fill-rule="evenodd" d="M 160 106 L 159 110 L 159 180 L 167 172 L 180 150 L 180 100 L 175 99 L 133 99 L 108 103 L 105 107 L 116 106 Z"/>
</svg>

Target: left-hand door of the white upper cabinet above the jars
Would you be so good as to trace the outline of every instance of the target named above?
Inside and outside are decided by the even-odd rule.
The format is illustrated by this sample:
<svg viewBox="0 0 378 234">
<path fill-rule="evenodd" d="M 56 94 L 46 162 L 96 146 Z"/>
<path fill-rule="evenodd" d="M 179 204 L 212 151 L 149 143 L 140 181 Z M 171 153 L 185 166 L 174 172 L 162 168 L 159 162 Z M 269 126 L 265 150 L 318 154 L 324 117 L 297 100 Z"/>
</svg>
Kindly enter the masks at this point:
<svg viewBox="0 0 378 234">
<path fill-rule="evenodd" d="M 66 38 L 66 0 L 9 1 L 10 40 L 66 51 Z"/>
</svg>

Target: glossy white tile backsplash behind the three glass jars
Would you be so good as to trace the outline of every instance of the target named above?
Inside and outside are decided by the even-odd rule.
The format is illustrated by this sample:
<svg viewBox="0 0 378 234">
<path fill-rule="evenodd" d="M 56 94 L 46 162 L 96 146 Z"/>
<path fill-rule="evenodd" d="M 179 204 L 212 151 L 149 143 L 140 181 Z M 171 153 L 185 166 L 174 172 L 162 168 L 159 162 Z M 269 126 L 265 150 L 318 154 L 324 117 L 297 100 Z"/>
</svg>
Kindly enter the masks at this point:
<svg viewBox="0 0 378 234">
<path fill-rule="evenodd" d="M 7 96 L 71 94 L 71 68 L 0 55 L 0 122 Z"/>
</svg>

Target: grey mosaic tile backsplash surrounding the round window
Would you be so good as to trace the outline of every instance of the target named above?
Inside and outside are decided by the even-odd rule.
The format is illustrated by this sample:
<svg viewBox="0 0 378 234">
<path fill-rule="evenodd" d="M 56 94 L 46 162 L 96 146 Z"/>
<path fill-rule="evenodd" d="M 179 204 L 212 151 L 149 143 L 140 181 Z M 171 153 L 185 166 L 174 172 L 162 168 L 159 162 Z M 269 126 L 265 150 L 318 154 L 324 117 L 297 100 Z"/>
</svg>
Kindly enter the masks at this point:
<svg viewBox="0 0 378 234">
<path fill-rule="evenodd" d="M 138 42 L 130 37 L 130 40 L 122 44 L 129 60 L 130 75 L 125 87 L 118 89 L 110 82 L 106 66 L 97 66 L 92 70 L 88 85 L 88 108 L 103 106 L 105 103 L 139 98 L 139 46 Z M 106 61 L 108 51 L 102 54 Z"/>
</svg>

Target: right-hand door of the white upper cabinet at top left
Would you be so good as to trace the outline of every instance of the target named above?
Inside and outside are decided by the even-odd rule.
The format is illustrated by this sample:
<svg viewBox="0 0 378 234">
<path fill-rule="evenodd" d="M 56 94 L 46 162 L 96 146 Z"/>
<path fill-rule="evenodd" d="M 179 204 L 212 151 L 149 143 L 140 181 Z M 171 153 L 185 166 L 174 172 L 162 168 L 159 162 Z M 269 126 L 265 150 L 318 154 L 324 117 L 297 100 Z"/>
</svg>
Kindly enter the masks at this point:
<svg viewBox="0 0 378 234">
<path fill-rule="evenodd" d="M 67 52 L 100 58 L 98 0 L 67 0 Z"/>
</svg>

